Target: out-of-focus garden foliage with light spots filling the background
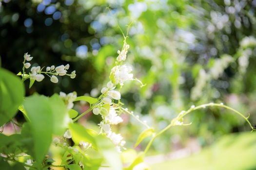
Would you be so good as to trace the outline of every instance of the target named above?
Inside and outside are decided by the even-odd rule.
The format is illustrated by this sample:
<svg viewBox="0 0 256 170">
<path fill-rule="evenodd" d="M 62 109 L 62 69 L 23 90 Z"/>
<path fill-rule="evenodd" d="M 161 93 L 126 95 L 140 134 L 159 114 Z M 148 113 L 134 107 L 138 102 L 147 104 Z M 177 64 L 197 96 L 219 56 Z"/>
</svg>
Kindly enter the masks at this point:
<svg viewBox="0 0 256 170">
<path fill-rule="evenodd" d="M 124 85 L 121 101 L 150 126 L 162 129 L 180 111 L 207 102 L 251 113 L 256 122 L 255 7 L 256 0 L 1 0 L 2 67 L 18 73 L 24 52 L 34 57 L 33 66 L 69 63 L 76 79 L 53 84 L 45 78 L 31 89 L 26 84 L 27 95 L 77 91 L 97 97 L 122 46 L 116 18 L 125 34 L 132 23 L 126 62 L 146 84 Z M 88 106 L 75 108 L 82 112 Z M 22 121 L 21 115 L 17 119 Z M 123 119 L 117 128 L 132 147 L 143 129 Z M 99 121 L 88 114 L 80 122 Z M 218 108 L 195 111 L 185 122 L 193 123 L 160 136 L 154 151 L 182 148 L 192 138 L 204 146 L 223 134 L 249 130 L 243 119 Z"/>
</svg>

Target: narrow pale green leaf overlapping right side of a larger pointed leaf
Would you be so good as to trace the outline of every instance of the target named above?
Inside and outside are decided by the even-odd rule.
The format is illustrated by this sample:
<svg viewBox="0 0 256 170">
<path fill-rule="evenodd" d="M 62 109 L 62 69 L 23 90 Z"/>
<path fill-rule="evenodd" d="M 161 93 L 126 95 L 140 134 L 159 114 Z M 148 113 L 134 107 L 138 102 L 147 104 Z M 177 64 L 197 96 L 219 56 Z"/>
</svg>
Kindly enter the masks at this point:
<svg viewBox="0 0 256 170">
<path fill-rule="evenodd" d="M 53 133 L 63 135 L 68 127 L 68 110 L 58 94 L 51 96 L 49 102 L 53 113 Z"/>
</svg>

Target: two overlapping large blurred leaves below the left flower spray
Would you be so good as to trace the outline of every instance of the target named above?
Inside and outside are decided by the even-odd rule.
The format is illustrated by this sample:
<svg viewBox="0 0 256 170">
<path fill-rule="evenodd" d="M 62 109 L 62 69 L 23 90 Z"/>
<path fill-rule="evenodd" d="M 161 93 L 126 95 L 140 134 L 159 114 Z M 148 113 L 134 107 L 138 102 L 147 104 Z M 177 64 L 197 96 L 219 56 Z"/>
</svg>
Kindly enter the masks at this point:
<svg viewBox="0 0 256 170">
<path fill-rule="evenodd" d="M 58 95 L 47 98 L 34 94 L 27 97 L 23 105 L 33 136 L 33 156 L 39 164 L 49 149 L 52 135 L 63 134 L 67 127 L 67 110 Z"/>
</svg>

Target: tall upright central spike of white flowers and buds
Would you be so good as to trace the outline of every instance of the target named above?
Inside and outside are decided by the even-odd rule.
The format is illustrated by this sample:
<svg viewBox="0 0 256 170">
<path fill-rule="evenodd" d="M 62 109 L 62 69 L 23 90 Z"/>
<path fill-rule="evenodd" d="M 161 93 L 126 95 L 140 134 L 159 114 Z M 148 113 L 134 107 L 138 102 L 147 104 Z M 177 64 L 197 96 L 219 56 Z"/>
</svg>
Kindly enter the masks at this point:
<svg viewBox="0 0 256 170">
<path fill-rule="evenodd" d="M 101 115 L 102 117 L 102 121 L 98 124 L 101 128 L 101 133 L 104 133 L 113 141 L 119 152 L 121 151 L 121 147 L 123 148 L 125 141 L 120 134 L 116 134 L 111 130 L 111 125 L 117 125 L 123 121 L 123 119 L 118 116 L 118 113 L 121 113 L 119 105 L 114 102 L 114 100 L 121 99 L 121 94 L 114 89 L 117 85 L 123 85 L 125 81 L 133 79 L 133 74 L 131 73 L 132 67 L 122 65 L 122 62 L 126 60 L 128 49 L 129 45 L 127 45 L 126 40 L 124 40 L 122 50 L 118 51 L 116 66 L 111 69 L 109 76 L 110 81 L 107 83 L 106 87 L 101 89 L 102 94 L 99 97 L 100 101 L 97 107 L 93 109 L 95 115 Z"/>
</svg>

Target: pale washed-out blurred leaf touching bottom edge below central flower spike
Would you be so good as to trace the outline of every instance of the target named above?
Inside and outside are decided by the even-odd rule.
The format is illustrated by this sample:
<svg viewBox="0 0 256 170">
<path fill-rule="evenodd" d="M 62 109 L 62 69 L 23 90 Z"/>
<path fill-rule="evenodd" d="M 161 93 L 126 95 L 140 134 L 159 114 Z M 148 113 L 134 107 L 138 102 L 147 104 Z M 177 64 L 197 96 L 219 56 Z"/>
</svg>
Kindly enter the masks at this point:
<svg viewBox="0 0 256 170">
<path fill-rule="evenodd" d="M 106 136 L 96 136 L 98 152 L 102 154 L 104 159 L 109 163 L 111 170 L 122 170 L 122 162 L 113 142 Z"/>
</svg>

